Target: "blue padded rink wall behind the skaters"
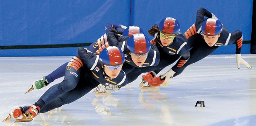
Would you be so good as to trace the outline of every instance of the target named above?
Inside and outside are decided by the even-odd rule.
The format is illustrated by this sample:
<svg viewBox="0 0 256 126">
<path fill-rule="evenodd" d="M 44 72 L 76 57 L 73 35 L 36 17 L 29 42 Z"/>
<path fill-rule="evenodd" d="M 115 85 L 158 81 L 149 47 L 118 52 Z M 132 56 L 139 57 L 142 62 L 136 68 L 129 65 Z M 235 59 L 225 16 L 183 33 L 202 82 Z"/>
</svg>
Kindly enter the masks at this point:
<svg viewBox="0 0 256 126">
<path fill-rule="evenodd" d="M 184 33 L 195 22 L 199 7 L 213 12 L 230 32 L 241 30 L 244 41 L 249 41 L 252 3 L 253 0 L 0 0 L 0 46 L 91 43 L 105 33 L 104 25 L 109 22 L 140 26 L 148 36 L 151 25 L 165 17 L 176 18 Z M 242 53 L 248 54 L 249 46 L 244 45 Z M 234 54 L 233 50 L 216 50 L 214 54 Z M 0 49 L 1 57 L 75 54 L 76 47 Z"/>
</svg>

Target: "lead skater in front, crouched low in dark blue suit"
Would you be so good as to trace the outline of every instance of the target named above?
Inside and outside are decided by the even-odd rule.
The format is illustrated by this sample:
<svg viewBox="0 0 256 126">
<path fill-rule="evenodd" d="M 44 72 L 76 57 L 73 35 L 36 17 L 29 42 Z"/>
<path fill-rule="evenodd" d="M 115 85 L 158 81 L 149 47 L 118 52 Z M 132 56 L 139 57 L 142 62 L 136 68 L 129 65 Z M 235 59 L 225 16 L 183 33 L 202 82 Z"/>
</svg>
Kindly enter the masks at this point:
<svg viewBox="0 0 256 126">
<path fill-rule="evenodd" d="M 99 84 L 125 86 L 127 78 L 122 70 L 124 62 L 124 53 L 118 47 L 105 48 L 100 55 L 80 47 L 78 56 L 69 61 L 61 83 L 50 87 L 33 105 L 11 111 L 4 121 L 21 116 L 16 122 L 31 121 L 38 113 L 78 100 Z"/>
</svg>

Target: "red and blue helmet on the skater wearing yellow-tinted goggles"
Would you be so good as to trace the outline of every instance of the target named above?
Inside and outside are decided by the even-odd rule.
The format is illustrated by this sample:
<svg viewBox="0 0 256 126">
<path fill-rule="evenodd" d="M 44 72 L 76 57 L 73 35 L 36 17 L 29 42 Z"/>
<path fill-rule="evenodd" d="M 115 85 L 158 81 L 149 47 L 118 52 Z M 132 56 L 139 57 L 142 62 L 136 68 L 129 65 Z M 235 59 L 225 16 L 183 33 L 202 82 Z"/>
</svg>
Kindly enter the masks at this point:
<svg viewBox="0 0 256 126">
<path fill-rule="evenodd" d="M 159 23 L 159 30 L 166 34 L 179 33 L 181 28 L 179 22 L 173 17 L 166 17 Z"/>
</svg>

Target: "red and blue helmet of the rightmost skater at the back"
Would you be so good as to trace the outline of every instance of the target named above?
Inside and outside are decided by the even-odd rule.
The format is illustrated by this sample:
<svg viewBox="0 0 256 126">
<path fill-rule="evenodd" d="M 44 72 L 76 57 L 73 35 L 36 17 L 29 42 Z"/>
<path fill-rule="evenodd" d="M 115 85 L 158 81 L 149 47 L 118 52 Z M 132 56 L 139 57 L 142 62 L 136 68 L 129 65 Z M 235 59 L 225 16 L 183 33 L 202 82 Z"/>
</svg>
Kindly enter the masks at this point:
<svg viewBox="0 0 256 126">
<path fill-rule="evenodd" d="M 205 35 L 217 35 L 220 34 L 222 31 L 223 25 L 220 23 L 219 20 L 208 18 L 207 20 L 203 21 L 201 31 L 202 34 Z"/>
</svg>

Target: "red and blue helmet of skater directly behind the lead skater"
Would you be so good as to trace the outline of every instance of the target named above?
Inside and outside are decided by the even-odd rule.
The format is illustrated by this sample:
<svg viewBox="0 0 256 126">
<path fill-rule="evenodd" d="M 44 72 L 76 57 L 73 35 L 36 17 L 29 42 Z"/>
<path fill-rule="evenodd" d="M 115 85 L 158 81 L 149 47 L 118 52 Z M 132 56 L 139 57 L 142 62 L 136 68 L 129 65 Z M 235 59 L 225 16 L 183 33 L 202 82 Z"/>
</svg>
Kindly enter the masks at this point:
<svg viewBox="0 0 256 126">
<path fill-rule="evenodd" d="M 151 43 L 144 34 L 133 34 L 128 38 L 127 48 L 131 53 L 142 55 L 149 52 Z"/>
</svg>

